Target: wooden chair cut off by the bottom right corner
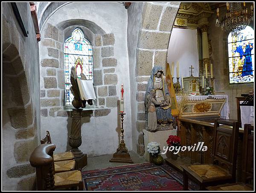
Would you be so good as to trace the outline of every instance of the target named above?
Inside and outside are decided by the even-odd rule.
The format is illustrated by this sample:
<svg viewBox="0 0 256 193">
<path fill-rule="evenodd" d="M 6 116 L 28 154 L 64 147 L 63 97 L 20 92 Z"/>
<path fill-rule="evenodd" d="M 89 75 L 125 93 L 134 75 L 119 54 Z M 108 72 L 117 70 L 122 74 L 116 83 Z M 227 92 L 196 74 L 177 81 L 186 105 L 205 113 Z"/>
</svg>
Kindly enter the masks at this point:
<svg viewBox="0 0 256 193">
<path fill-rule="evenodd" d="M 207 187 L 207 190 L 212 191 L 251 191 L 253 190 L 253 126 L 244 124 L 244 138 L 243 138 L 243 162 L 242 162 L 242 182 L 233 184 L 221 184 L 218 186 Z M 250 182 L 250 184 L 248 184 Z"/>
</svg>

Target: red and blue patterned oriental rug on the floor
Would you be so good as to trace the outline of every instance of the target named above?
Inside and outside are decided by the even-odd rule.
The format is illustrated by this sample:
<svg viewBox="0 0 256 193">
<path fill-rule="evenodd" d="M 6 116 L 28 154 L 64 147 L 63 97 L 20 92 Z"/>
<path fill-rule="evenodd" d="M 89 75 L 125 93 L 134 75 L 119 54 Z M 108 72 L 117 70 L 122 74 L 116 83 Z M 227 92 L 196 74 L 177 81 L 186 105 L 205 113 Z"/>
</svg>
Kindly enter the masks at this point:
<svg viewBox="0 0 256 193">
<path fill-rule="evenodd" d="M 135 191 L 183 190 L 183 174 L 168 164 L 152 163 L 108 167 L 101 170 L 82 171 L 86 190 Z M 199 187 L 189 181 L 189 190 Z"/>
</svg>

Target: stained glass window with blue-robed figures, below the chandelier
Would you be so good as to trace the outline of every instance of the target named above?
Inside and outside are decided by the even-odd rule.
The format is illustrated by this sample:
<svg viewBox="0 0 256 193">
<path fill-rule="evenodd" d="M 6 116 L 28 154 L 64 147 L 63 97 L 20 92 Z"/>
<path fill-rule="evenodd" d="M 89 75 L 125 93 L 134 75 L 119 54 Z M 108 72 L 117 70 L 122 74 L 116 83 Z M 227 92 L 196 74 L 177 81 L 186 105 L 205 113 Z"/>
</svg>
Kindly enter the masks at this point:
<svg viewBox="0 0 256 193">
<path fill-rule="evenodd" d="M 230 84 L 254 82 L 254 30 L 247 26 L 228 36 Z"/>
</svg>

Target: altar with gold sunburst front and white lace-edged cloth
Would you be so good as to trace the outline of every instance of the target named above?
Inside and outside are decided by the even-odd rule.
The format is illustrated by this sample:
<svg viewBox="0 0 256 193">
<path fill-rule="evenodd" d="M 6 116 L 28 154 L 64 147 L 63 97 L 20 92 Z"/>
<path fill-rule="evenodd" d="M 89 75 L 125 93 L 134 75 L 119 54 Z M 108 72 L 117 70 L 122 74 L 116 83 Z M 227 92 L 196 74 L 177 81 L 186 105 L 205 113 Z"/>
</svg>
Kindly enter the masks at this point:
<svg viewBox="0 0 256 193">
<path fill-rule="evenodd" d="M 177 103 L 182 96 L 176 96 Z M 220 116 L 229 119 L 228 95 L 195 95 L 185 96 L 187 103 L 182 113 L 182 117 L 192 116 Z"/>
</svg>

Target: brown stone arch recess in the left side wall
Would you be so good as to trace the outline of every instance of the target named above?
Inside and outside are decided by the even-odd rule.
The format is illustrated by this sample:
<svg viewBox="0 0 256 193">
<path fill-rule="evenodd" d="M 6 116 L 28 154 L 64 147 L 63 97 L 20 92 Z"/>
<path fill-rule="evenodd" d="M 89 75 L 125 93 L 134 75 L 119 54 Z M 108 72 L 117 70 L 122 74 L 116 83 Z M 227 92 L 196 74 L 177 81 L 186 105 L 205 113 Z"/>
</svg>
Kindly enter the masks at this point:
<svg viewBox="0 0 256 193">
<path fill-rule="evenodd" d="M 6 159 L 3 158 L 3 171 L 12 181 L 10 184 L 16 181 L 15 190 L 32 190 L 35 186 L 35 169 L 29 164 L 29 157 L 35 147 L 36 121 L 27 75 L 17 47 L 10 43 L 5 43 L 3 47 L 6 49 L 2 53 L 2 145 L 3 153 L 8 153 Z"/>
</svg>

